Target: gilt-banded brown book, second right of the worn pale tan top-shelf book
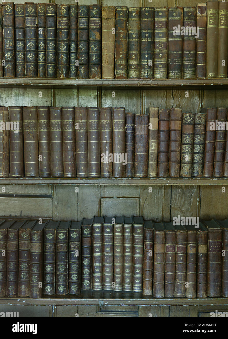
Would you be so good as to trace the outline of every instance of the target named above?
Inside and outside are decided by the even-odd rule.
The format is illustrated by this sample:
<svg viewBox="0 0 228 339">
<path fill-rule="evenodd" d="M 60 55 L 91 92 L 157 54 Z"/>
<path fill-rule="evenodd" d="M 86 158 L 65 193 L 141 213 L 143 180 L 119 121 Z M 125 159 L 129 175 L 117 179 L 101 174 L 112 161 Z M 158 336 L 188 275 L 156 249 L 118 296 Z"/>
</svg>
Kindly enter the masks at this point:
<svg viewBox="0 0 228 339">
<path fill-rule="evenodd" d="M 127 24 L 127 75 L 128 79 L 140 78 L 140 8 L 128 7 Z"/>
</svg>

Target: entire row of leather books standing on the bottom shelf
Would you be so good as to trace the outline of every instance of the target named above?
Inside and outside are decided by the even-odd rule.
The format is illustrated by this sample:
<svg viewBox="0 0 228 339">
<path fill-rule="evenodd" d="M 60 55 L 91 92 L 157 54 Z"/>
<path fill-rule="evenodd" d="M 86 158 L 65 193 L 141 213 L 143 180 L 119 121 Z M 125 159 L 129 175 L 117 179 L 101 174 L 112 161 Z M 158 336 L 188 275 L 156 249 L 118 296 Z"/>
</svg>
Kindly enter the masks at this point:
<svg viewBox="0 0 228 339">
<path fill-rule="evenodd" d="M 154 298 L 228 297 L 228 221 L 186 224 L 123 216 L 1 221 L 0 296 L 92 288 Z"/>
</svg>

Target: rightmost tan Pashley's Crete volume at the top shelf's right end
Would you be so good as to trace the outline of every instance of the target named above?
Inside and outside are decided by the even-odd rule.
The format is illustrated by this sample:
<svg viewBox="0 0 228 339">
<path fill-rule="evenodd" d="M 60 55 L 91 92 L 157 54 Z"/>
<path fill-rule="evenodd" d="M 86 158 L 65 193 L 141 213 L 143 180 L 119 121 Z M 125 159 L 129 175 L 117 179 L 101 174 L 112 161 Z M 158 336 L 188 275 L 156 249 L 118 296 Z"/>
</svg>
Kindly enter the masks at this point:
<svg viewBox="0 0 228 339">
<path fill-rule="evenodd" d="M 218 78 L 227 78 L 228 63 L 228 2 L 218 2 Z"/>
</svg>

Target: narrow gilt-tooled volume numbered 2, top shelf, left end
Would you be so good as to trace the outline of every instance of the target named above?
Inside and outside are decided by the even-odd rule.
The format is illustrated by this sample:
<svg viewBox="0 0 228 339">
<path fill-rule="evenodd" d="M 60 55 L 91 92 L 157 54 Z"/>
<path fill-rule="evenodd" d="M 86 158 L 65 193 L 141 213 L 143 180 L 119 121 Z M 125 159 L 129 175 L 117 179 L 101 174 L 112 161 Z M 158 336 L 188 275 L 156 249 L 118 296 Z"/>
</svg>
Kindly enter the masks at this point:
<svg viewBox="0 0 228 339">
<path fill-rule="evenodd" d="M 14 4 L 14 19 L 15 76 L 16 78 L 25 78 L 24 4 Z"/>
</svg>

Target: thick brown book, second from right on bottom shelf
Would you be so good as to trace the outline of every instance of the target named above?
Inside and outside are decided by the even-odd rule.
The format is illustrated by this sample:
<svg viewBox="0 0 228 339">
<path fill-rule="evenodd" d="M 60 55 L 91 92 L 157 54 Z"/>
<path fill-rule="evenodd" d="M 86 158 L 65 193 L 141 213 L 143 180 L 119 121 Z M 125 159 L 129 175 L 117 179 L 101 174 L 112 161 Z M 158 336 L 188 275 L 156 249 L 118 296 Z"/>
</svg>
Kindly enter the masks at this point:
<svg viewBox="0 0 228 339">
<path fill-rule="evenodd" d="M 202 220 L 208 231 L 207 296 L 222 295 L 223 227 L 215 220 Z"/>
</svg>

